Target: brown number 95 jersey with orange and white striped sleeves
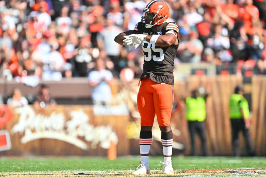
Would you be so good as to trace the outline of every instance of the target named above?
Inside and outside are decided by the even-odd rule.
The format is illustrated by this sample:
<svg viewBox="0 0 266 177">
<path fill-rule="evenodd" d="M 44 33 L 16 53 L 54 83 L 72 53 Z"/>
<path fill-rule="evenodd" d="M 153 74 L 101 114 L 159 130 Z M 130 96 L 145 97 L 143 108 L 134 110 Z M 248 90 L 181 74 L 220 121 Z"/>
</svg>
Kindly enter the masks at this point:
<svg viewBox="0 0 266 177">
<path fill-rule="evenodd" d="M 165 35 L 169 31 L 178 34 L 178 26 L 176 23 L 168 22 L 158 25 L 156 32 L 146 28 L 142 22 L 136 24 L 135 29 L 140 34 L 157 34 Z M 140 79 L 147 77 L 157 83 L 166 83 L 174 85 L 174 57 L 177 52 L 178 45 L 168 47 L 160 47 L 152 45 L 149 42 L 142 43 L 144 52 L 143 74 Z"/>
</svg>

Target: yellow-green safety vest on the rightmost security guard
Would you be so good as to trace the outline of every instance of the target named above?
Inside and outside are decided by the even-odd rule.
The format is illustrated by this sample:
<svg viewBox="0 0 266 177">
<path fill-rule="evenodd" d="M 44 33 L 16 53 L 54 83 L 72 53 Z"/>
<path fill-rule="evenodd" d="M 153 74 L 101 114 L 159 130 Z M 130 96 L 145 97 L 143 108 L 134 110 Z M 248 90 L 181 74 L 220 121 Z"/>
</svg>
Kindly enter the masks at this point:
<svg viewBox="0 0 266 177">
<path fill-rule="evenodd" d="M 239 101 L 241 101 L 239 103 Z M 244 111 L 245 118 L 247 119 L 249 116 L 248 109 L 248 101 L 240 94 L 232 94 L 229 101 L 229 109 L 230 109 L 230 119 L 241 119 L 243 115 L 241 113 L 241 108 Z"/>
</svg>

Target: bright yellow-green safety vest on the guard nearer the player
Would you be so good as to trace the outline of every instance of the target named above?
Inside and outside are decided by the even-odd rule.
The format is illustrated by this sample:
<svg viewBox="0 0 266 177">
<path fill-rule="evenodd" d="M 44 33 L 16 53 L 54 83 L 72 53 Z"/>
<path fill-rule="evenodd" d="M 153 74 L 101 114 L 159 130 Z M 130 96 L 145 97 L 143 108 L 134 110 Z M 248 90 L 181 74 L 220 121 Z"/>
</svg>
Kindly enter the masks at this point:
<svg viewBox="0 0 266 177">
<path fill-rule="evenodd" d="M 203 97 L 186 98 L 186 119 L 198 122 L 206 119 L 206 105 Z"/>
</svg>

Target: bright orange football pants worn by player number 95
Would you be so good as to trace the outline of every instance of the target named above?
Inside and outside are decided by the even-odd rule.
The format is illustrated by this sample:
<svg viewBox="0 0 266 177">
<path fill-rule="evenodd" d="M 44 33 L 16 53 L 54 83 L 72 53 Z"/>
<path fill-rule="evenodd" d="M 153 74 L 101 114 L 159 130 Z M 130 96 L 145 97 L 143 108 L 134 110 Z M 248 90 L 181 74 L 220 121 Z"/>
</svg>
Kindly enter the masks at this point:
<svg viewBox="0 0 266 177">
<path fill-rule="evenodd" d="M 161 127 L 170 125 L 173 107 L 173 86 L 143 78 L 138 93 L 141 126 L 153 126 L 155 113 Z"/>
</svg>

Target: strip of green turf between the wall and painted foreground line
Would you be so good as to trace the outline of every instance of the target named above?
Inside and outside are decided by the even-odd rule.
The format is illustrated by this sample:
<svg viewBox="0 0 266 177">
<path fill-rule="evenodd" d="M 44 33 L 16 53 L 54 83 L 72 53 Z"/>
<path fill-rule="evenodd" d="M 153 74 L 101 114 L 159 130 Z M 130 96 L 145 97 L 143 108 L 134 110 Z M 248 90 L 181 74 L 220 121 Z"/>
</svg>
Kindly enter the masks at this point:
<svg viewBox="0 0 266 177">
<path fill-rule="evenodd" d="M 139 160 L 139 157 L 119 157 L 114 161 L 99 157 L 0 158 L 0 172 L 135 170 Z M 151 170 L 162 170 L 160 161 L 163 157 L 151 156 Z M 174 170 L 266 168 L 266 158 L 262 157 L 173 157 L 172 163 Z"/>
</svg>

